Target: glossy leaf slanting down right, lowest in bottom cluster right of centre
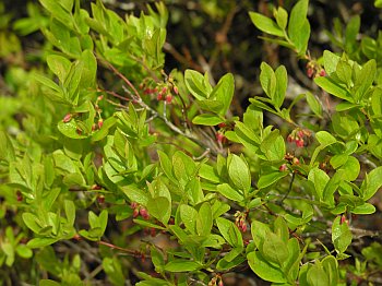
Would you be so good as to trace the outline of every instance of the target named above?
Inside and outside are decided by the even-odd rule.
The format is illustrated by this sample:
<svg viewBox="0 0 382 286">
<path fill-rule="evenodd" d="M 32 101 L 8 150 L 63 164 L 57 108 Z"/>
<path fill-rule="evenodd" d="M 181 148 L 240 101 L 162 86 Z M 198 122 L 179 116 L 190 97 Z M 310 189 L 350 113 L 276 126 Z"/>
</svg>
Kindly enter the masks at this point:
<svg viewBox="0 0 382 286">
<path fill-rule="evenodd" d="M 262 279 L 274 283 L 286 283 L 286 277 L 280 269 L 271 265 L 259 251 L 250 252 L 247 255 L 251 270 Z"/>
</svg>

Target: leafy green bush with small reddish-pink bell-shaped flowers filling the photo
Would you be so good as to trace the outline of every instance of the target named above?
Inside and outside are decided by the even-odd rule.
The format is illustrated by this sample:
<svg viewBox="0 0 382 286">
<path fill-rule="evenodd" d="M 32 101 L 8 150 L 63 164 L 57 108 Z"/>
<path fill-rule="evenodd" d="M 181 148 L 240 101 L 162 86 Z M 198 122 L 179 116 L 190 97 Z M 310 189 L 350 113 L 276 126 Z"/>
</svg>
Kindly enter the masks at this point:
<svg viewBox="0 0 382 286">
<path fill-rule="evenodd" d="M 164 3 L 124 17 L 99 0 L 39 3 L 15 27 L 43 32 L 46 64 L 13 70 L 22 116 L 1 121 L 3 284 L 12 267 L 39 285 L 92 285 L 100 272 L 114 285 L 381 275 L 381 235 L 353 226 L 382 186 L 381 32 L 359 38 L 355 16 L 327 32 L 336 52 L 313 58 L 308 0 L 249 12 L 315 90 L 286 100 L 287 69 L 262 62 L 263 93 L 239 117 L 234 74 L 164 71 Z"/>
</svg>

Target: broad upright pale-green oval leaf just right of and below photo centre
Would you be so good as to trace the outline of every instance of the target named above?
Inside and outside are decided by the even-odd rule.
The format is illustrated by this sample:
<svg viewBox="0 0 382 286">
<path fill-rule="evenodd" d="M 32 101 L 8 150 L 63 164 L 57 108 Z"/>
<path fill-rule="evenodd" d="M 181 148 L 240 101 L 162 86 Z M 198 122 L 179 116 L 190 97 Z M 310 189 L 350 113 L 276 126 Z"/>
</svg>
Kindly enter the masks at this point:
<svg viewBox="0 0 382 286">
<path fill-rule="evenodd" d="M 251 172 L 246 162 L 235 154 L 228 157 L 228 175 L 239 190 L 248 191 L 251 188 Z"/>
</svg>

